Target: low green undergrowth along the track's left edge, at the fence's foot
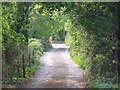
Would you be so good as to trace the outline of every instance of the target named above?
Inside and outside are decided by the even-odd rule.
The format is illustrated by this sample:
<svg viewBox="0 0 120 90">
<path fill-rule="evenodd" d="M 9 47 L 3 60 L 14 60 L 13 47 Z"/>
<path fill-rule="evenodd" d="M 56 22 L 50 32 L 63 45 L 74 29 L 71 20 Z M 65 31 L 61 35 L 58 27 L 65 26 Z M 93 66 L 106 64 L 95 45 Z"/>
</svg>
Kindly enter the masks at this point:
<svg viewBox="0 0 120 90">
<path fill-rule="evenodd" d="M 12 75 L 12 81 L 11 81 L 11 77 L 7 77 L 4 78 L 2 80 L 2 84 L 3 87 L 6 84 L 13 84 L 13 85 L 18 85 L 18 84 L 22 84 L 24 83 L 26 80 L 28 80 L 28 78 L 30 78 L 32 75 L 34 75 L 34 73 L 36 72 L 36 70 L 38 70 L 40 68 L 40 61 L 39 61 L 39 56 L 36 56 L 35 58 L 35 63 L 32 64 L 30 67 L 26 67 L 26 78 L 22 78 L 22 69 L 19 69 L 19 73 L 17 73 L 16 71 L 13 71 L 14 74 Z M 19 75 L 19 77 L 18 77 Z"/>
</svg>

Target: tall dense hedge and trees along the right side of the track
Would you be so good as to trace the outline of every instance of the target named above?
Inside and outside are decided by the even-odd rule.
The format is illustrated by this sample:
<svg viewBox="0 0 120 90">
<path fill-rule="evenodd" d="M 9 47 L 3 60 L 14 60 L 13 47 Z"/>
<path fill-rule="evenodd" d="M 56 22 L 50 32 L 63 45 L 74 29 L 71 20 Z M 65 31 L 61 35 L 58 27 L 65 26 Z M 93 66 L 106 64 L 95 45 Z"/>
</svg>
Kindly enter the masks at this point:
<svg viewBox="0 0 120 90">
<path fill-rule="evenodd" d="M 70 55 L 81 68 L 89 70 L 94 79 L 117 74 L 112 63 L 112 46 L 118 45 L 117 5 L 86 2 L 71 3 L 67 8 L 71 19 L 67 20 L 64 27 L 69 35 L 66 43 L 70 44 Z M 107 72 L 113 71 L 116 74 L 108 76 Z M 96 82 L 96 87 L 111 86 L 107 82 Z"/>
</svg>

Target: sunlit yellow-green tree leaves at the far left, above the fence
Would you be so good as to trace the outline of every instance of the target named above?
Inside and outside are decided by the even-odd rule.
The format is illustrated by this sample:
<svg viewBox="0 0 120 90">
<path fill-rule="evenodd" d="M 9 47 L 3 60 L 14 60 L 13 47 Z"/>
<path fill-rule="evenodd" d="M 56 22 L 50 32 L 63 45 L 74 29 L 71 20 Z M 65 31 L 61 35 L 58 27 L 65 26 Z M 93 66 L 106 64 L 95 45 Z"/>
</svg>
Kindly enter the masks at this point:
<svg viewBox="0 0 120 90">
<path fill-rule="evenodd" d="M 10 6 L 11 5 L 11 6 Z M 14 47 L 16 44 L 25 43 L 23 34 L 17 33 L 14 30 L 13 24 L 15 23 L 16 16 L 16 3 L 3 3 L 2 4 L 2 35 L 4 49 Z"/>
</svg>

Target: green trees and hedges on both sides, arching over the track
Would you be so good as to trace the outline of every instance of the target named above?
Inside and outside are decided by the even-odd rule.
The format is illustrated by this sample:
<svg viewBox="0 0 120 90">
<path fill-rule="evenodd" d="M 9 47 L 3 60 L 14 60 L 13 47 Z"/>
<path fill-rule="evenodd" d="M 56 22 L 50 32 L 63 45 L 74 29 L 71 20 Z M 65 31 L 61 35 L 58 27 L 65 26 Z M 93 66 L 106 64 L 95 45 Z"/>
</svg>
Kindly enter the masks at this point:
<svg viewBox="0 0 120 90">
<path fill-rule="evenodd" d="M 3 81 L 8 82 L 8 77 L 10 82 L 22 80 L 23 54 L 26 76 L 35 73 L 52 36 L 65 38 L 71 57 L 90 72 L 95 87 L 116 87 L 108 82 L 115 75 L 108 73 L 116 73 L 112 46 L 119 43 L 117 11 L 116 3 L 2 3 Z"/>
</svg>

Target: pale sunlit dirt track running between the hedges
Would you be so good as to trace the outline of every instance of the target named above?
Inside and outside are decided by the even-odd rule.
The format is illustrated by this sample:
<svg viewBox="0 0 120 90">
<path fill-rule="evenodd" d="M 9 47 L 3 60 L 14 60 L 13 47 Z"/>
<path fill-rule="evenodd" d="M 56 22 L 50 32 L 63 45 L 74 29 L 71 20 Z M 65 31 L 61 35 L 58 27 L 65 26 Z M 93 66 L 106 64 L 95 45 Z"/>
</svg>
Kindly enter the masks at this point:
<svg viewBox="0 0 120 90">
<path fill-rule="evenodd" d="M 41 68 L 23 88 L 85 88 L 85 71 L 70 59 L 68 46 L 53 44 L 40 58 Z"/>
</svg>

